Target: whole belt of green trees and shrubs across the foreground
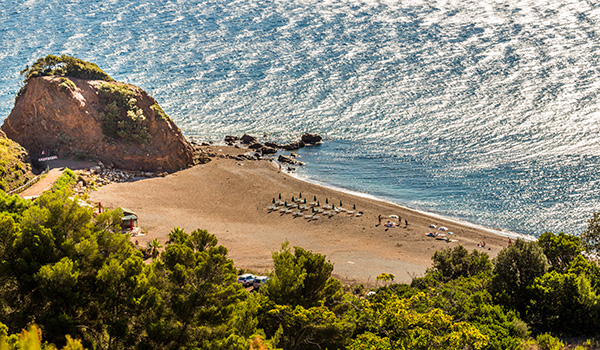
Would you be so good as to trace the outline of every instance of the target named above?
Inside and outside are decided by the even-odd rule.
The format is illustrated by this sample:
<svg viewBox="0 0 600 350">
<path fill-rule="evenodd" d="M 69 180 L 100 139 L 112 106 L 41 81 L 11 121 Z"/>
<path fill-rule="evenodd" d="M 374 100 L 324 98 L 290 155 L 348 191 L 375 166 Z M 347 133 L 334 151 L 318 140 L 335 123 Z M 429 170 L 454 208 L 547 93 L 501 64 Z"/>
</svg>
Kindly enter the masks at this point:
<svg viewBox="0 0 600 350">
<path fill-rule="evenodd" d="M 425 276 L 367 297 L 284 243 L 248 293 L 204 230 L 173 229 L 144 263 L 122 211 L 94 217 L 70 199 L 73 180 L 33 202 L 0 192 L 0 349 L 561 349 L 600 333 L 600 269 L 577 237 L 546 232 L 492 261 L 442 250 Z"/>
</svg>

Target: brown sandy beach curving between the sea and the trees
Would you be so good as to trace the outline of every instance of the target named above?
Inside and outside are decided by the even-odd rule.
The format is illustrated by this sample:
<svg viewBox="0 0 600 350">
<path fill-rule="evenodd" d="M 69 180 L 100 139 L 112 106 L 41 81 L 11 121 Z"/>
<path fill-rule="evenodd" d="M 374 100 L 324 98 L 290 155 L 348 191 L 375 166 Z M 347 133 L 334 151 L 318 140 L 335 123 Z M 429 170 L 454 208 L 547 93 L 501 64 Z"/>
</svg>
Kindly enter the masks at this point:
<svg viewBox="0 0 600 350">
<path fill-rule="evenodd" d="M 247 151 L 225 146 L 212 149 L 218 155 Z M 326 199 L 335 206 L 341 201 L 344 208 L 356 206 L 356 212 L 364 214 L 357 217 L 342 212 L 309 221 L 269 211 L 279 194 L 291 202 L 292 196 L 298 198 L 300 193 L 309 202 L 314 196 L 321 205 Z M 166 177 L 103 186 L 92 192 L 90 199 L 104 207 L 135 211 L 146 232 L 132 238 L 140 244 L 154 238 L 164 244 L 174 227 L 187 232 L 206 229 L 228 248 L 236 267 L 263 273 L 272 267 L 271 253 L 287 240 L 292 246 L 327 255 L 334 263 L 334 276 L 346 284 L 372 286 L 383 272 L 393 274 L 397 282 L 408 283 L 425 273 L 438 249 L 462 244 L 494 257 L 508 245 L 508 238 L 483 228 L 311 184 L 280 172 L 276 163 L 264 160 L 215 157 L 208 164 Z M 388 220 L 398 222 L 390 215 L 402 219 L 399 227 L 385 227 Z M 448 237 L 456 242 L 426 236 L 428 232 L 442 233 L 429 228 L 432 224 L 447 227 L 454 233 Z M 482 241 L 486 247 L 477 247 Z"/>
</svg>

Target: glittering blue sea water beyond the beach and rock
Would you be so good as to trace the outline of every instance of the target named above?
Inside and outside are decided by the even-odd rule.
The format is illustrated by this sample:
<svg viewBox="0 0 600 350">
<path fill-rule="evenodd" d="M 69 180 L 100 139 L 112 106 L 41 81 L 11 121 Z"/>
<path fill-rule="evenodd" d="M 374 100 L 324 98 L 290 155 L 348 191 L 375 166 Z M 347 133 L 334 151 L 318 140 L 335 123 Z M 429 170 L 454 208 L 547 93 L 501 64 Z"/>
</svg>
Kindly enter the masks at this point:
<svg viewBox="0 0 600 350">
<path fill-rule="evenodd" d="M 583 0 L 4 0 L 0 116 L 26 64 L 74 55 L 186 136 L 317 132 L 302 176 L 579 234 L 600 211 L 599 34 Z"/>
</svg>

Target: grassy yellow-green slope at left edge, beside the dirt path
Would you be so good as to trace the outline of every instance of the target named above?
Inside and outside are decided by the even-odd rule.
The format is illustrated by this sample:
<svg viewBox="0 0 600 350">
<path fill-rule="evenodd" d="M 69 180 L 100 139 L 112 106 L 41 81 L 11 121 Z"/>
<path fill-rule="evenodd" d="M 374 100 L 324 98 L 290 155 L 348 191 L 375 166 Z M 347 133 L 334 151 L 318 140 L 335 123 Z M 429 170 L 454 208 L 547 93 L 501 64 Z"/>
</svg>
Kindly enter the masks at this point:
<svg viewBox="0 0 600 350">
<path fill-rule="evenodd" d="M 31 165 L 25 162 L 27 152 L 18 143 L 0 137 L 0 189 L 14 190 L 33 178 Z"/>
</svg>

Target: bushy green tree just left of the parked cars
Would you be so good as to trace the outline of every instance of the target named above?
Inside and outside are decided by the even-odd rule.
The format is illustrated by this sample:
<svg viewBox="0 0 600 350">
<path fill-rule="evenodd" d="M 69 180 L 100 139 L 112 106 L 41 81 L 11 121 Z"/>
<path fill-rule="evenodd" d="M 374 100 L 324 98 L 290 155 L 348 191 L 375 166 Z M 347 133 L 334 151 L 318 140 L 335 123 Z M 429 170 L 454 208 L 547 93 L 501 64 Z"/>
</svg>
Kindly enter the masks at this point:
<svg viewBox="0 0 600 350">
<path fill-rule="evenodd" d="M 227 249 L 216 244 L 216 238 L 203 230 L 191 235 L 179 228 L 171 231 L 161 260 L 153 265 L 152 279 L 164 285 L 160 298 L 166 307 L 146 327 L 149 344 L 238 347 L 240 335 L 230 334 L 227 325 L 247 292 L 237 283 Z"/>
</svg>

